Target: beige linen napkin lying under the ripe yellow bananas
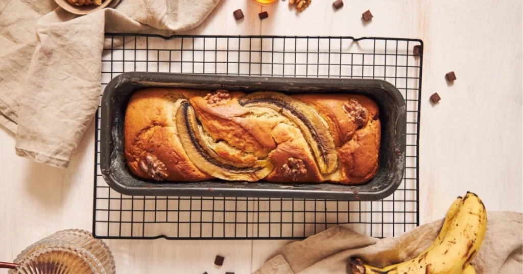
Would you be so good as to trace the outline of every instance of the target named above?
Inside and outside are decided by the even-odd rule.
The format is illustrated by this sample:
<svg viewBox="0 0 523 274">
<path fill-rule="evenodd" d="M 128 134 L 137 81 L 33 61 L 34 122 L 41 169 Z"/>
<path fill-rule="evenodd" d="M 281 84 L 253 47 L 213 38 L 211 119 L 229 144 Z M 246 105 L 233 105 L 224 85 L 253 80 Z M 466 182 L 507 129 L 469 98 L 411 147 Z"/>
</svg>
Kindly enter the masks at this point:
<svg viewBox="0 0 523 274">
<path fill-rule="evenodd" d="M 489 212 L 487 233 L 472 261 L 478 274 L 523 273 L 523 215 Z M 348 228 L 332 227 L 283 247 L 255 274 L 351 273 L 348 260 L 360 257 L 383 267 L 416 257 L 436 239 L 443 220 L 422 225 L 395 238 L 376 239 Z"/>
</svg>

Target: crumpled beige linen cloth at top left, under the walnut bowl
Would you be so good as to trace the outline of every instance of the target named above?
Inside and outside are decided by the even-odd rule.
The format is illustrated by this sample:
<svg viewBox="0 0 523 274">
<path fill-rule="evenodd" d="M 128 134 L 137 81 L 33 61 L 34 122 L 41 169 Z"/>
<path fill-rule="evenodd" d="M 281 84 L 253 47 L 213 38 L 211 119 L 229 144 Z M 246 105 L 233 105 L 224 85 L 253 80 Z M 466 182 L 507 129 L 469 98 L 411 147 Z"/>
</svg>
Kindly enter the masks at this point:
<svg viewBox="0 0 523 274">
<path fill-rule="evenodd" d="M 122 0 L 81 17 L 52 0 L 0 1 L 0 124 L 16 133 L 16 153 L 69 165 L 100 100 L 105 32 L 171 35 L 219 1 Z"/>
</svg>

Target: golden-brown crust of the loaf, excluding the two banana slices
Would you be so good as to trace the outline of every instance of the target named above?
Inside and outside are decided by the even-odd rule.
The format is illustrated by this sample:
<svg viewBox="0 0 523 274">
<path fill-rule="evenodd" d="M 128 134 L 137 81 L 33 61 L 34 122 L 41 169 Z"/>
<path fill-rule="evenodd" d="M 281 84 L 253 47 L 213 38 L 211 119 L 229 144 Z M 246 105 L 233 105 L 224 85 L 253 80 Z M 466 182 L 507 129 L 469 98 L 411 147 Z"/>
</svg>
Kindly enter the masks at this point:
<svg viewBox="0 0 523 274">
<path fill-rule="evenodd" d="M 244 96 L 224 90 L 138 91 L 129 100 L 124 121 L 129 169 L 155 180 L 213 178 L 197 168 L 181 145 L 175 115 L 180 100 L 185 100 L 194 108 L 206 144 L 219 157 L 243 165 L 266 159 L 274 164 L 265 181 L 360 184 L 376 174 L 381 126 L 378 105 L 370 98 L 357 94 L 292 96 L 319 114 L 333 137 L 338 166 L 334 172 L 322 174 L 303 129 L 277 109 L 240 105 L 238 100 Z"/>
</svg>

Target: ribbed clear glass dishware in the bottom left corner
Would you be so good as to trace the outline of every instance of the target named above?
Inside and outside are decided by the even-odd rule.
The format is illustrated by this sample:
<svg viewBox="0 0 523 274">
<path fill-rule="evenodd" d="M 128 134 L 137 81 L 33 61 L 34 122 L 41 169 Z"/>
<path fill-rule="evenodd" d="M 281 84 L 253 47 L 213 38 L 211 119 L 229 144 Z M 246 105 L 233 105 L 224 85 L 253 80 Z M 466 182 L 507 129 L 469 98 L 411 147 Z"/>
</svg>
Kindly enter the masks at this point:
<svg viewBox="0 0 523 274">
<path fill-rule="evenodd" d="M 115 274 L 115 259 L 109 247 L 84 230 L 56 232 L 22 251 L 15 263 L 17 273 L 99 273 Z"/>
</svg>

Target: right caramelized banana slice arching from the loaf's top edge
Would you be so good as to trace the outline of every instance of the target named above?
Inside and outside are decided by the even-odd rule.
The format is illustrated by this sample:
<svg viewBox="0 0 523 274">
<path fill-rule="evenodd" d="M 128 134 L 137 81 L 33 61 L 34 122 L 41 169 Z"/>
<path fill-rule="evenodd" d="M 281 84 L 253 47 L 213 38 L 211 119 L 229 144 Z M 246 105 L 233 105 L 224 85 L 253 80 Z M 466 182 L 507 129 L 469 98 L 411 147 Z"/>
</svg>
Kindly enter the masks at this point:
<svg viewBox="0 0 523 274">
<path fill-rule="evenodd" d="M 310 106 L 285 94 L 260 91 L 238 101 L 243 106 L 263 106 L 281 112 L 297 124 L 309 142 L 323 174 L 332 173 L 338 165 L 334 140 L 322 118 Z"/>
</svg>

